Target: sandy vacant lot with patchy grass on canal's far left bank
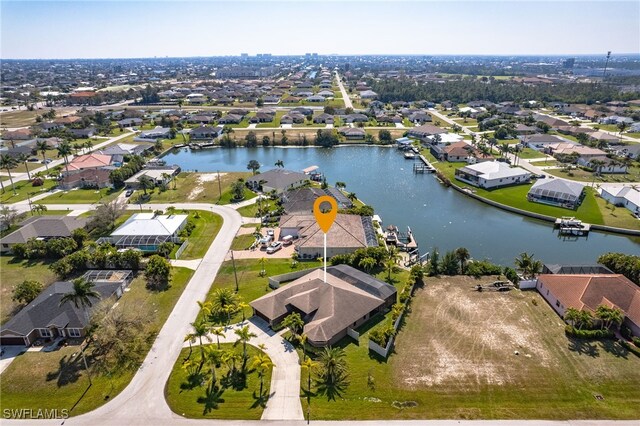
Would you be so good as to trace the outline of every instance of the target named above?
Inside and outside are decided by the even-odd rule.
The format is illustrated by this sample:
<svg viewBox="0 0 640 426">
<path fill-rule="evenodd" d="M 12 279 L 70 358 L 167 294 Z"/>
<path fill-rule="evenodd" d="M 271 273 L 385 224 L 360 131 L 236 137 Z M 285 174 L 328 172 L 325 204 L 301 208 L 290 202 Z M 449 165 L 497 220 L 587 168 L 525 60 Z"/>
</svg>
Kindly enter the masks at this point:
<svg viewBox="0 0 640 426">
<path fill-rule="evenodd" d="M 218 185 L 218 179 L 216 173 L 180 173 L 174 182 L 169 183 L 169 188 L 165 191 L 161 191 L 160 188 L 156 188 L 153 191 L 148 191 L 150 198 L 149 203 L 183 203 L 183 202 L 197 202 L 197 203 L 218 203 L 229 204 L 231 202 L 231 184 L 239 178 L 246 179 L 251 176 L 251 173 L 244 172 L 232 172 L 232 173 L 220 173 L 220 186 Z M 222 189 L 222 199 L 220 199 L 220 188 Z M 138 190 L 131 197 L 131 202 L 134 202 L 138 194 L 142 194 L 142 191 Z M 255 197 L 255 193 L 245 189 L 245 199 Z"/>
</svg>

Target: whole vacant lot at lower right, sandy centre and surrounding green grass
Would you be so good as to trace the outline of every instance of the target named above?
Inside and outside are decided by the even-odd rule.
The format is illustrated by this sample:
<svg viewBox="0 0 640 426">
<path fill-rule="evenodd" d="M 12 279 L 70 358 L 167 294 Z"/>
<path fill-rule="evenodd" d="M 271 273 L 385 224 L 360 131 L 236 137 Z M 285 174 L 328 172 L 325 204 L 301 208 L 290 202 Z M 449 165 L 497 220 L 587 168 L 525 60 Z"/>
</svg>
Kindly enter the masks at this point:
<svg viewBox="0 0 640 426">
<path fill-rule="evenodd" d="M 311 417 L 640 416 L 640 359 L 612 341 L 567 339 L 560 318 L 535 292 L 473 291 L 477 283 L 491 281 L 427 278 L 398 334 L 396 353 L 380 361 L 369 354 L 365 339 L 347 344 L 351 383 L 336 401 L 312 399 Z M 604 399 L 596 400 L 596 394 Z M 395 408 L 394 402 L 416 405 Z"/>
</svg>

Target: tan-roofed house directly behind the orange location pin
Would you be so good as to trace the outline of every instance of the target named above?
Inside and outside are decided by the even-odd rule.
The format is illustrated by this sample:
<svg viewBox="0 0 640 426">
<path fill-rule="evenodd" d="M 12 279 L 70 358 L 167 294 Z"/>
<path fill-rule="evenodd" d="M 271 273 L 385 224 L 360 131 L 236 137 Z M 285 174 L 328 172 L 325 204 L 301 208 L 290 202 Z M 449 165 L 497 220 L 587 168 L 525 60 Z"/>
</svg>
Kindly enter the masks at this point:
<svg viewBox="0 0 640 426">
<path fill-rule="evenodd" d="M 296 239 L 295 250 L 301 259 L 323 256 L 324 233 L 311 213 L 284 215 L 280 218 L 281 238 Z M 377 247 L 378 239 L 371 217 L 338 214 L 326 234 L 327 257 L 353 253 L 359 248 Z"/>
</svg>

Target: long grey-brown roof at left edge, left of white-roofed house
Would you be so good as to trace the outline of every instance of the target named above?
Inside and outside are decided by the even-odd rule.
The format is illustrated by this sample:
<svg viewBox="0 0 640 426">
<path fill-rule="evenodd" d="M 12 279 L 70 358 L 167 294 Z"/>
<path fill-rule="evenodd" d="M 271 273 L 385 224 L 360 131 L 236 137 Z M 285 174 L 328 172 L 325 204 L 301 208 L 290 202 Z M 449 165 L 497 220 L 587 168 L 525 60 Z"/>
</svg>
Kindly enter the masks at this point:
<svg viewBox="0 0 640 426">
<path fill-rule="evenodd" d="M 26 243 L 31 238 L 70 237 L 71 233 L 87 224 L 86 217 L 34 216 L 24 222 L 20 229 L 2 238 L 2 244 Z"/>
</svg>

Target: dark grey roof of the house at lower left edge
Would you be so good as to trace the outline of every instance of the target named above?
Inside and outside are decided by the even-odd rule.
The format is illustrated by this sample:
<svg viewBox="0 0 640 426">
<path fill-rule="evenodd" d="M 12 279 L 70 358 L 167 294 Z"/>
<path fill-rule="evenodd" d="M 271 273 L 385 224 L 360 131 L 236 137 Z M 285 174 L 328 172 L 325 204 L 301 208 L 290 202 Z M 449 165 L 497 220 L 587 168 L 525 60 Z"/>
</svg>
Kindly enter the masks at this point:
<svg viewBox="0 0 640 426">
<path fill-rule="evenodd" d="M 100 293 L 101 299 L 110 297 L 122 281 L 98 282 L 93 290 Z M 0 328 L 3 333 L 13 332 L 26 336 L 35 328 L 84 328 L 87 325 L 87 316 L 83 308 L 76 308 L 73 302 L 60 306 L 60 299 L 73 291 L 73 283 L 58 281 L 47 287 L 31 303 L 25 306 L 13 318 Z M 93 306 L 99 302 L 91 299 Z M 91 310 L 91 308 L 89 308 Z"/>
</svg>

